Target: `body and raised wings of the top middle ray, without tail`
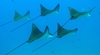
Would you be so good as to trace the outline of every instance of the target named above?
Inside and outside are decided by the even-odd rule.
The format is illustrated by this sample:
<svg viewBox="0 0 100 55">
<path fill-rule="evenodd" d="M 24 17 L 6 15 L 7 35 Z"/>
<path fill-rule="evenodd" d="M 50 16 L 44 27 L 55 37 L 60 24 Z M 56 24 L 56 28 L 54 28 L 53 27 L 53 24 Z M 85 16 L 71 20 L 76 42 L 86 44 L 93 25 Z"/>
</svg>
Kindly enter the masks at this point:
<svg viewBox="0 0 100 55">
<path fill-rule="evenodd" d="M 60 5 L 58 4 L 53 10 L 49 10 L 49 9 L 45 8 L 42 4 L 40 4 L 40 7 L 41 7 L 41 16 L 46 16 L 53 12 L 58 13 Z"/>
</svg>

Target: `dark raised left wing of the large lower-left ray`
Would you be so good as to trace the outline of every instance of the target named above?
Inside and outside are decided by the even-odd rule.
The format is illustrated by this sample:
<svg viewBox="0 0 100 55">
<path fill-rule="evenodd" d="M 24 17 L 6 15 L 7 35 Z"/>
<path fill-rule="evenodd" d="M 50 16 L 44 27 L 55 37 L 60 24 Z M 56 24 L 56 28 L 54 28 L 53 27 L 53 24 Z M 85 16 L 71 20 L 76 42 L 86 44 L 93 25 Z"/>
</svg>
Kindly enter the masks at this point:
<svg viewBox="0 0 100 55">
<path fill-rule="evenodd" d="M 43 32 L 41 32 L 37 26 L 35 24 L 32 24 L 32 32 L 31 35 L 29 37 L 29 40 L 27 41 L 28 43 L 33 42 L 34 40 L 37 40 L 39 38 L 41 38 L 43 35 Z"/>
</svg>

